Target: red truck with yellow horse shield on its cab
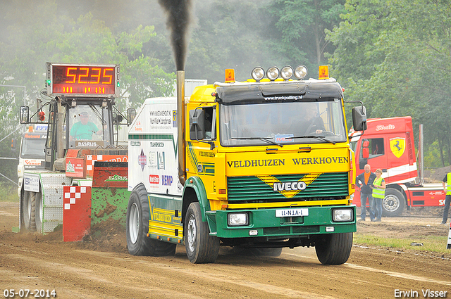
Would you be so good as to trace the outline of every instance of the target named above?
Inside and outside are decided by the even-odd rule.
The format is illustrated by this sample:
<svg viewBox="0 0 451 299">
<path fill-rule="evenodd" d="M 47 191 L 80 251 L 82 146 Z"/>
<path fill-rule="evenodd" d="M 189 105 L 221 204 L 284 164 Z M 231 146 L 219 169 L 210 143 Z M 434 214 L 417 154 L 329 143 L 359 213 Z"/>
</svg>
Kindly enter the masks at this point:
<svg viewBox="0 0 451 299">
<path fill-rule="evenodd" d="M 357 175 L 364 165 L 374 172 L 380 168 L 387 188 L 383 198 L 383 215 L 397 216 L 404 208 L 434 207 L 445 204 L 442 184 L 416 182 L 417 167 L 412 117 L 376 118 L 367 120 L 365 132 L 350 130 L 355 153 Z M 417 179 L 418 181 L 418 179 Z M 360 192 L 354 193 L 353 203 L 360 206 Z"/>
</svg>

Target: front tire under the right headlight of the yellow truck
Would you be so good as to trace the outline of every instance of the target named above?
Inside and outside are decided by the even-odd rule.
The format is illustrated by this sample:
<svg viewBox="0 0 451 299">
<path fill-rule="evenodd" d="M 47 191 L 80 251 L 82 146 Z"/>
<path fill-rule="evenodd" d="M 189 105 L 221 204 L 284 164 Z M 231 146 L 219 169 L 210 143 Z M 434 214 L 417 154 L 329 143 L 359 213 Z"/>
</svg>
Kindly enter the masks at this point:
<svg viewBox="0 0 451 299">
<path fill-rule="evenodd" d="M 323 265 L 341 265 L 347 262 L 352 248 L 352 233 L 323 234 L 316 240 L 315 250 Z"/>
</svg>

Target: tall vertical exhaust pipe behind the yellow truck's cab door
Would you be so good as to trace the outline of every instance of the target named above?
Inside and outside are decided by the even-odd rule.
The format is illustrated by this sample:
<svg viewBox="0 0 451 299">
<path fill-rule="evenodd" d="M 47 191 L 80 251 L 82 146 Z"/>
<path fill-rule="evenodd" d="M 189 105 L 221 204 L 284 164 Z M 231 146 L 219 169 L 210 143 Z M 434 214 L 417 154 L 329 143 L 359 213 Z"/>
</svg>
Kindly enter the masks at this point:
<svg viewBox="0 0 451 299">
<path fill-rule="evenodd" d="M 186 142 L 185 142 L 185 70 L 177 71 L 177 133 L 178 133 L 178 179 L 186 181 Z"/>
</svg>

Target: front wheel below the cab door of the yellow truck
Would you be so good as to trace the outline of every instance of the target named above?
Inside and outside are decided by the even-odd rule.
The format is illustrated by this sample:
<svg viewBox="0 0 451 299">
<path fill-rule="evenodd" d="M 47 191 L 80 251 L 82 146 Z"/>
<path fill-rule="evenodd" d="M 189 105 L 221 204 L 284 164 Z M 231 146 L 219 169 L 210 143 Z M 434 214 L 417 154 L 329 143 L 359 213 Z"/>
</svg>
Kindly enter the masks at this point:
<svg viewBox="0 0 451 299">
<path fill-rule="evenodd" d="M 219 238 L 210 236 L 209 226 L 202 222 L 199 203 L 191 203 L 185 217 L 185 248 L 193 264 L 215 262 L 219 253 Z"/>
</svg>

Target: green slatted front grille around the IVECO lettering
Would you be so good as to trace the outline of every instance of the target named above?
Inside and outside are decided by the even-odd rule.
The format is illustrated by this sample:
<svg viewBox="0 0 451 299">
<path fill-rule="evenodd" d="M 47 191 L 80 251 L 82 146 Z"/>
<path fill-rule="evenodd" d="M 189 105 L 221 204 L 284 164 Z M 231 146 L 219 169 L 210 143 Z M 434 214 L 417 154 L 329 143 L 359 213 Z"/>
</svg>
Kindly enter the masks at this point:
<svg viewBox="0 0 451 299">
<path fill-rule="evenodd" d="M 268 179 L 271 178 L 271 179 Z M 228 177 L 228 201 L 233 203 L 268 203 L 280 201 L 323 201 L 344 199 L 348 193 L 347 172 L 323 174 L 285 174 L 266 177 Z M 274 191 L 293 182 L 306 182 L 300 191 Z M 295 186 L 296 187 L 296 186 Z"/>
</svg>

